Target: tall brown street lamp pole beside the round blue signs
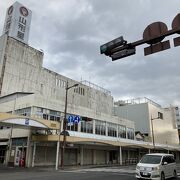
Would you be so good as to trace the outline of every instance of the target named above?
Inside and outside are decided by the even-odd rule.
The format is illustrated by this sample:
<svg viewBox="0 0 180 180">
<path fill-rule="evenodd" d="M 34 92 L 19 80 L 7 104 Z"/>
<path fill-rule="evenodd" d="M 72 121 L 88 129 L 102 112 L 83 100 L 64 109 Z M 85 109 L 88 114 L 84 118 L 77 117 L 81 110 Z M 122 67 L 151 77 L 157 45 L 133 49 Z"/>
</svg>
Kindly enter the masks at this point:
<svg viewBox="0 0 180 180">
<path fill-rule="evenodd" d="M 66 114 L 67 114 L 67 96 L 68 96 L 68 90 L 78 86 L 79 84 L 74 84 L 72 86 L 68 86 L 68 82 L 66 83 L 66 97 L 65 97 L 65 109 L 64 109 L 64 122 L 63 122 L 63 142 L 61 146 L 61 168 L 64 168 L 64 152 L 65 152 L 65 146 L 66 146 L 66 128 L 67 128 L 67 119 L 66 119 Z M 59 134 L 60 136 L 60 134 Z"/>
</svg>

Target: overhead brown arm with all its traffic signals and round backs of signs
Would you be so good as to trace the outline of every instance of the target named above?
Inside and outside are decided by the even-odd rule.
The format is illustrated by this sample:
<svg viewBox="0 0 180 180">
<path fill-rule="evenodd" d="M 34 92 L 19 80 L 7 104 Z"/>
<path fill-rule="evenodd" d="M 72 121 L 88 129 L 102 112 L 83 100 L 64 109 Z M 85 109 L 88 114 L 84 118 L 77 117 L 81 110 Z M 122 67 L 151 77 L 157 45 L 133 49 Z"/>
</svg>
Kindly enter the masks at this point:
<svg viewBox="0 0 180 180">
<path fill-rule="evenodd" d="M 144 48 L 144 55 L 150 55 L 159 51 L 170 49 L 170 41 L 162 41 L 165 37 L 180 34 L 180 13 L 172 21 L 172 29 L 163 22 L 154 22 L 146 27 L 143 39 L 127 43 L 123 36 L 100 46 L 100 53 L 112 58 L 112 61 L 136 54 L 136 46 L 149 44 Z M 180 37 L 174 38 L 174 46 L 180 46 Z"/>
</svg>

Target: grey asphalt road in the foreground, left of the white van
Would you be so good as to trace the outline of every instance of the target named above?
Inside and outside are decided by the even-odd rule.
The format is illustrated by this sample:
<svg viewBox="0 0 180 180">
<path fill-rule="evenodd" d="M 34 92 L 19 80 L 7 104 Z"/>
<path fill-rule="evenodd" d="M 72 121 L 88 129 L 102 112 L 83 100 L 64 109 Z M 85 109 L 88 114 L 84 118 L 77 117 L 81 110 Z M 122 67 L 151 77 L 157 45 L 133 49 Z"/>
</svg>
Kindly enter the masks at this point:
<svg viewBox="0 0 180 180">
<path fill-rule="evenodd" d="M 180 180 L 180 177 L 178 178 Z M 0 169 L 0 180 L 136 180 L 134 168 Z"/>
</svg>

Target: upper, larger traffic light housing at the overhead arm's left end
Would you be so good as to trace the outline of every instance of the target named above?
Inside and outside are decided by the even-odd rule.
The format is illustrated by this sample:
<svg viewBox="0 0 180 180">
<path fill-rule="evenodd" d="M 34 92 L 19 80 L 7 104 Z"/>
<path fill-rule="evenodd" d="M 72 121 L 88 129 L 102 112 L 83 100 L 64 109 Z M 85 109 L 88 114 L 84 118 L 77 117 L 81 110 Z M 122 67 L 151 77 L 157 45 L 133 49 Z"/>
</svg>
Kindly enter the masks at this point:
<svg viewBox="0 0 180 180">
<path fill-rule="evenodd" d="M 105 54 L 107 56 L 110 56 L 111 55 L 111 50 L 116 48 L 116 47 L 119 47 L 119 46 L 123 46 L 127 44 L 127 41 L 125 41 L 123 39 L 123 36 L 120 36 L 106 44 L 103 44 L 100 46 L 100 52 L 101 54 Z"/>
</svg>

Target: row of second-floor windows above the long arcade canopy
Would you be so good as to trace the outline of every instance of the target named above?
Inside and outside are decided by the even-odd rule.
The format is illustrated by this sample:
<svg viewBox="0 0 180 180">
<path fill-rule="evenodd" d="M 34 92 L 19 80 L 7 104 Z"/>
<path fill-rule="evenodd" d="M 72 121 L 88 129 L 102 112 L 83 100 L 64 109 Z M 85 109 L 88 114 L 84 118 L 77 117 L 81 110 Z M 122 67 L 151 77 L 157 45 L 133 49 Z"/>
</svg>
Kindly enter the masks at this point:
<svg viewBox="0 0 180 180">
<path fill-rule="evenodd" d="M 23 108 L 15 111 L 16 114 L 23 116 L 31 116 L 31 108 Z M 42 118 L 45 120 L 51 121 L 60 121 L 61 113 L 59 111 L 53 111 L 49 109 L 39 108 L 37 107 L 35 110 L 35 116 L 37 118 Z M 89 118 L 91 119 L 91 118 Z M 94 128 L 93 128 L 94 125 Z M 80 126 L 80 127 L 79 127 Z M 115 123 L 110 123 L 101 120 L 81 120 L 79 124 L 77 123 L 68 123 L 67 130 L 70 131 L 80 131 L 83 133 L 111 136 L 111 137 L 119 137 L 119 138 L 127 138 L 134 139 L 135 131 L 133 128 L 129 128 L 123 125 L 118 125 Z"/>
</svg>

